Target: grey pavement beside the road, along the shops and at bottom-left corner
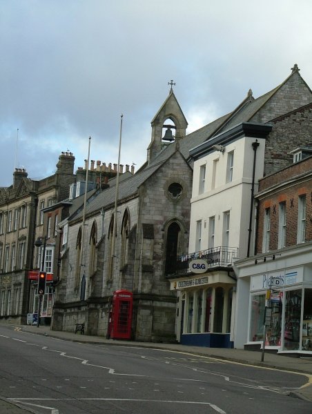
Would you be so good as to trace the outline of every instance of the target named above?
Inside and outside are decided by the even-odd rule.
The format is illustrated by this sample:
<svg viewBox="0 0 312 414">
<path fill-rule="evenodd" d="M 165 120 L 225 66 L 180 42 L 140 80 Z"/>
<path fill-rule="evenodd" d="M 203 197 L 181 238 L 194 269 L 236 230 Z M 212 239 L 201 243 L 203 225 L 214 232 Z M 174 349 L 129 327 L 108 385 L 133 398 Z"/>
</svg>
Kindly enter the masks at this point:
<svg viewBox="0 0 312 414">
<path fill-rule="evenodd" d="M 188 353 L 202 357 L 211 357 L 215 359 L 222 359 L 224 361 L 231 361 L 240 364 L 262 366 L 264 368 L 273 368 L 281 371 L 289 371 L 292 373 L 302 373 L 306 375 L 306 384 L 298 391 L 290 393 L 292 397 L 297 397 L 302 400 L 312 402 L 312 354 L 311 357 L 289 357 L 285 354 L 264 353 L 264 362 L 261 351 L 246 351 L 243 349 L 226 349 L 226 348 L 206 348 L 202 346 L 188 346 L 180 344 L 158 344 L 151 342 L 135 342 L 135 341 L 119 341 L 116 339 L 106 339 L 106 337 L 81 335 L 74 332 L 67 331 L 51 331 L 50 326 L 32 326 L 20 325 L 17 326 L 21 331 L 35 333 L 37 335 L 45 335 L 48 337 L 55 337 L 57 339 L 64 339 L 72 342 L 82 342 L 86 344 L 105 344 L 105 345 L 119 345 L 119 346 L 141 346 L 142 348 L 155 348 L 167 351 L 176 351 L 180 353 Z M 311 407 L 312 410 L 312 407 Z M 26 414 L 35 413 L 30 408 L 22 408 L 18 404 L 6 400 L 0 395 L 0 413 L 8 414 Z"/>
</svg>

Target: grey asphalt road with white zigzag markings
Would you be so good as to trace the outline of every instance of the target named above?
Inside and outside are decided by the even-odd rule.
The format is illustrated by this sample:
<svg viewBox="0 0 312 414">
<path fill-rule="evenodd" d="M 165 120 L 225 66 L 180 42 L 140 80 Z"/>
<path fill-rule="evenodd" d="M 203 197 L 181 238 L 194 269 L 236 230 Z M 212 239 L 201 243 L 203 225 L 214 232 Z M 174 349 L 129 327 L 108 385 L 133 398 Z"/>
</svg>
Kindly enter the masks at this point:
<svg viewBox="0 0 312 414">
<path fill-rule="evenodd" d="M 304 375 L 0 326 L 0 393 L 40 414 L 311 414 Z"/>
</svg>

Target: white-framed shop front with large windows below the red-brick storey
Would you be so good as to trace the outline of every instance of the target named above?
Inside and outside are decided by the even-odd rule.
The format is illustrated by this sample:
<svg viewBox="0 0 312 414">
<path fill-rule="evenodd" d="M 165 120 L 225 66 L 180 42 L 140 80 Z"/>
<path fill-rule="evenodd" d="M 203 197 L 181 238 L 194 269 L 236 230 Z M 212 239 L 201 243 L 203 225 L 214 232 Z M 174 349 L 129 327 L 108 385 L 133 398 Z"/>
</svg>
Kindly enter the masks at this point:
<svg viewBox="0 0 312 414">
<path fill-rule="evenodd" d="M 271 323 L 264 331 L 264 313 Z M 312 352 L 312 273 L 293 268 L 251 276 L 248 345 L 279 353 Z"/>
</svg>

